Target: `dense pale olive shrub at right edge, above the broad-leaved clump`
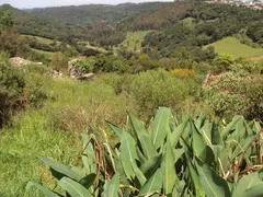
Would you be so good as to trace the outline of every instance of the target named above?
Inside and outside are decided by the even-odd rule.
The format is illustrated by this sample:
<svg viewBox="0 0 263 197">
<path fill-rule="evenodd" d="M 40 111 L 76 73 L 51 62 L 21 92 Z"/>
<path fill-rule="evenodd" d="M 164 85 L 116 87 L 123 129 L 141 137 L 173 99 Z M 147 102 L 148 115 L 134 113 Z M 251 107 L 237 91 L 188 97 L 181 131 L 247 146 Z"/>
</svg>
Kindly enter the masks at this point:
<svg viewBox="0 0 263 197">
<path fill-rule="evenodd" d="M 262 78 L 242 71 L 226 72 L 205 89 L 205 102 L 217 116 L 241 114 L 249 119 L 262 116 Z"/>
</svg>

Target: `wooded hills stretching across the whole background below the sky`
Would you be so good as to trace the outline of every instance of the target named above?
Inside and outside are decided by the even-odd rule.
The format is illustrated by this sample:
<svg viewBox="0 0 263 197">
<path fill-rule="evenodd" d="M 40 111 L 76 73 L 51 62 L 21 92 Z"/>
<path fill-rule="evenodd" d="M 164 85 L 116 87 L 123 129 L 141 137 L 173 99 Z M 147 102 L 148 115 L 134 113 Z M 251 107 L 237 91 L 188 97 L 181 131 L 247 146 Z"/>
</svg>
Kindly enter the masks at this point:
<svg viewBox="0 0 263 197">
<path fill-rule="evenodd" d="M 3 5 L 21 34 L 65 43 L 87 40 L 118 46 L 127 32 L 151 31 L 142 47 L 161 56 L 178 56 L 227 36 L 253 47 L 263 44 L 263 11 L 204 2 L 149 2 L 118 5 L 91 4 L 32 10 Z M 180 50 L 179 50 L 180 48 Z M 176 49 L 176 51 L 175 51 Z M 146 51 L 146 50 L 145 50 Z M 180 55 L 181 56 L 181 55 Z"/>
</svg>

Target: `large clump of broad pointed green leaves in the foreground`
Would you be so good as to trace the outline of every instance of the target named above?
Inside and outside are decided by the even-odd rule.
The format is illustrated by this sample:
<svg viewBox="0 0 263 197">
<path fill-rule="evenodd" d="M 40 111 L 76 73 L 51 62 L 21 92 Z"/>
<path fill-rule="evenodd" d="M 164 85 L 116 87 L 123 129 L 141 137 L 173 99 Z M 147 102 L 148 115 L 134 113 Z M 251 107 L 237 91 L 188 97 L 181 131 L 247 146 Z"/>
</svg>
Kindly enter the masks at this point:
<svg viewBox="0 0 263 197">
<path fill-rule="evenodd" d="M 90 126 L 84 135 L 82 172 L 41 158 L 68 196 L 262 196 L 261 127 L 233 117 L 220 126 L 201 115 L 180 124 L 161 107 L 146 128 L 129 115 L 130 127 L 107 123 L 119 138 L 111 147 Z M 36 183 L 46 196 L 62 196 Z"/>
</svg>

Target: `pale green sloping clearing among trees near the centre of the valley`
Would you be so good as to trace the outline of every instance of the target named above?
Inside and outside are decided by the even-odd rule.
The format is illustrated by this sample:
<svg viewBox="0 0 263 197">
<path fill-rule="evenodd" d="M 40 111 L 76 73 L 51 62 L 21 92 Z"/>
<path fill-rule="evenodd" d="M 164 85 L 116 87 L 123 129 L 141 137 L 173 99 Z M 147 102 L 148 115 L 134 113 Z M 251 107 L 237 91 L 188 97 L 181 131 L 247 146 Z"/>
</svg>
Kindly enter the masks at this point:
<svg viewBox="0 0 263 197">
<path fill-rule="evenodd" d="M 141 43 L 145 39 L 145 36 L 152 31 L 138 31 L 138 32 L 128 32 L 126 38 L 118 45 L 118 48 L 124 46 L 128 50 L 141 50 Z"/>
</svg>

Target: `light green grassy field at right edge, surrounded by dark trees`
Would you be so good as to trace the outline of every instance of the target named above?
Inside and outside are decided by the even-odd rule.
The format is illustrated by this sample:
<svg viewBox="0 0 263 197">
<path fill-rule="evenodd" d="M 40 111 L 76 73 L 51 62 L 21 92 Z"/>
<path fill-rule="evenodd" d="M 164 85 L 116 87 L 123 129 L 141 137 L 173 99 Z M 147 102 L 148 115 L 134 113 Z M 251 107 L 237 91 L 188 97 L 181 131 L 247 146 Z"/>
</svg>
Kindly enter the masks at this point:
<svg viewBox="0 0 263 197">
<path fill-rule="evenodd" d="M 216 53 L 219 55 L 232 55 L 235 58 L 263 56 L 263 48 L 252 48 L 248 45 L 241 44 L 236 37 L 226 37 L 221 40 L 207 45 L 204 48 L 207 48 L 208 46 L 214 46 Z"/>
</svg>

